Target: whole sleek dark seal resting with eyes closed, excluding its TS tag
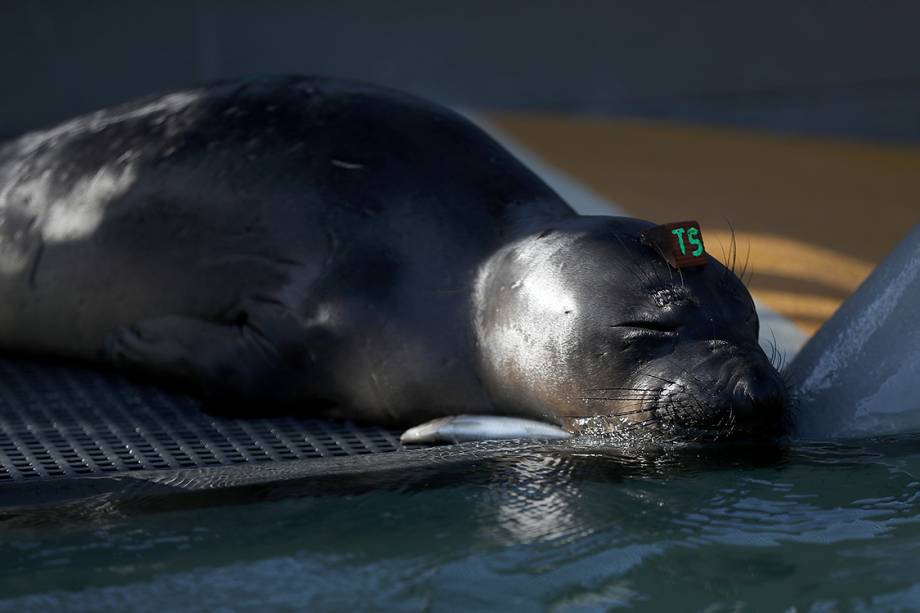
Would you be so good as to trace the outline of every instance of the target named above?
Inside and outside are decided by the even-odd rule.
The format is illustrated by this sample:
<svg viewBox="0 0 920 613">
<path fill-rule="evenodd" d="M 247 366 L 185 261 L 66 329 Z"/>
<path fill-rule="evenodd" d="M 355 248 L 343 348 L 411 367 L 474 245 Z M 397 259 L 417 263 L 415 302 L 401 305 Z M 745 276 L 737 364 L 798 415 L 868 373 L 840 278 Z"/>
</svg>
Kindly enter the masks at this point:
<svg viewBox="0 0 920 613">
<path fill-rule="evenodd" d="M 212 411 L 775 435 L 750 295 L 708 255 L 675 269 L 652 225 L 577 215 L 400 92 L 222 82 L 0 148 L 0 347 L 178 381 Z"/>
</svg>

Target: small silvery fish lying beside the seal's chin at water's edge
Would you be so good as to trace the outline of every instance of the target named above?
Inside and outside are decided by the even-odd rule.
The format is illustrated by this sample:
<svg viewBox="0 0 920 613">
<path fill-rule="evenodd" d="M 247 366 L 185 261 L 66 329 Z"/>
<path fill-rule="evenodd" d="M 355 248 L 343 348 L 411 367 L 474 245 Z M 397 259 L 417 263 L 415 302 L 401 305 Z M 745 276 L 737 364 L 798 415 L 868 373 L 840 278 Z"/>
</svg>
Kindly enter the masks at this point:
<svg viewBox="0 0 920 613">
<path fill-rule="evenodd" d="M 521 417 L 455 415 L 439 417 L 409 428 L 399 440 L 406 445 L 425 445 L 507 439 L 560 440 L 571 436 L 571 432 L 552 424 Z"/>
</svg>

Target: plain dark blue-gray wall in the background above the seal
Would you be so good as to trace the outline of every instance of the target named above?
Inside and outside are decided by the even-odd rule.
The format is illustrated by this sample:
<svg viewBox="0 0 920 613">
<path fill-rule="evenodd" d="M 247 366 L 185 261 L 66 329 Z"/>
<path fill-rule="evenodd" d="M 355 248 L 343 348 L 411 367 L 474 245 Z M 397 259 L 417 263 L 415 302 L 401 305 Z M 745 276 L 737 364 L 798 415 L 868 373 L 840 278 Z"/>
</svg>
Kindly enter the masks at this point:
<svg viewBox="0 0 920 613">
<path fill-rule="evenodd" d="M 202 80 L 920 140 L 915 1 L 0 0 L 0 133 Z"/>
</svg>

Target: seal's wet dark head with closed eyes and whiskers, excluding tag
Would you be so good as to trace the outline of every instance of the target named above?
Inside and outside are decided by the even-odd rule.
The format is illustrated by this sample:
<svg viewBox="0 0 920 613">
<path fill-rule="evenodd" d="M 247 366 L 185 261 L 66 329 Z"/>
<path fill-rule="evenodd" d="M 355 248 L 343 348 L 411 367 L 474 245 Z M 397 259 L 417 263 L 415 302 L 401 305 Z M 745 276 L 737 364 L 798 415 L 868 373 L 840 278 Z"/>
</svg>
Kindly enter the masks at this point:
<svg viewBox="0 0 920 613">
<path fill-rule="evenodd" d="M 643 240 L 652 227 L 564 220 L 492 258 L 476 330 L 496 404 L 575 431 L 781 434 L 786 386 L 758 344 L 747 289 L 708 255 L 672 266 Z"/>
</svg>

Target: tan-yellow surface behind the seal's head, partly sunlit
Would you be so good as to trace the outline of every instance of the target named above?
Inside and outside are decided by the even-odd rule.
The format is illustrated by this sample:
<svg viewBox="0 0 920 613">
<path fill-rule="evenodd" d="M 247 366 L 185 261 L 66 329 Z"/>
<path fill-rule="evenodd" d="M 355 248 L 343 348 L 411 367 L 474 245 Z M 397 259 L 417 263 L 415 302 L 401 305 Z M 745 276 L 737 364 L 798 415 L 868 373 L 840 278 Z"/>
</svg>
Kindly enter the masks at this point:
<svg viewBox="0 0 920 613">
<path fill-rule="evenodd" d="M 489 120 L 553 166 L 656 222 L 697 219 L 707 250 L 813 333 L 920 222 L 920 147 L 530 113 Z M 722 247 L 720 247 L 720 244 Z"/>
</svg>

